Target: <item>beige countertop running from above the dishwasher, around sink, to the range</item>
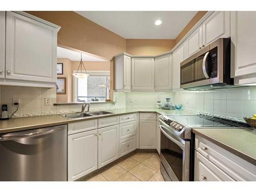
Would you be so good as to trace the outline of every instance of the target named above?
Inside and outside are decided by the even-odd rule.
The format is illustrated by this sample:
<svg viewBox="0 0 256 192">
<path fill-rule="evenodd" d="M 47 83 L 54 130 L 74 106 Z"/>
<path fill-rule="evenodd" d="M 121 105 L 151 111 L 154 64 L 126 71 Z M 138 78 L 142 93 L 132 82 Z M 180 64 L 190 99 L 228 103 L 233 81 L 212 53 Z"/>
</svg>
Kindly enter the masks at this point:
<svg viewBox="0 0 256 192">
<path fill-rule="evenodd" d="M 60 124 L 67 124 L 78 121 L 85 121 L 90 119 L 98 119 L 104 117 L 111 117 L 115 115 L 123 115 L 129 113 L 158 113 L 164 115 L 195 115 L 188 111 L 178 111 L 178 110 L 158 110 L 158 109 L 115 109 L 115 110 L 103 110 L 112 112 L 112 114 L 107 115 L 95 115 L 86 118 L 79 119 L 66 119 L 60 115 L 43 115 L 43 116 L 33 116 L 33 117 L 18 117 L 9 120 L 0 120 L 0 134 L 23 131 L 30 129 L 37 129 L 46 126 L 55 126 Z"/>
</svg>

